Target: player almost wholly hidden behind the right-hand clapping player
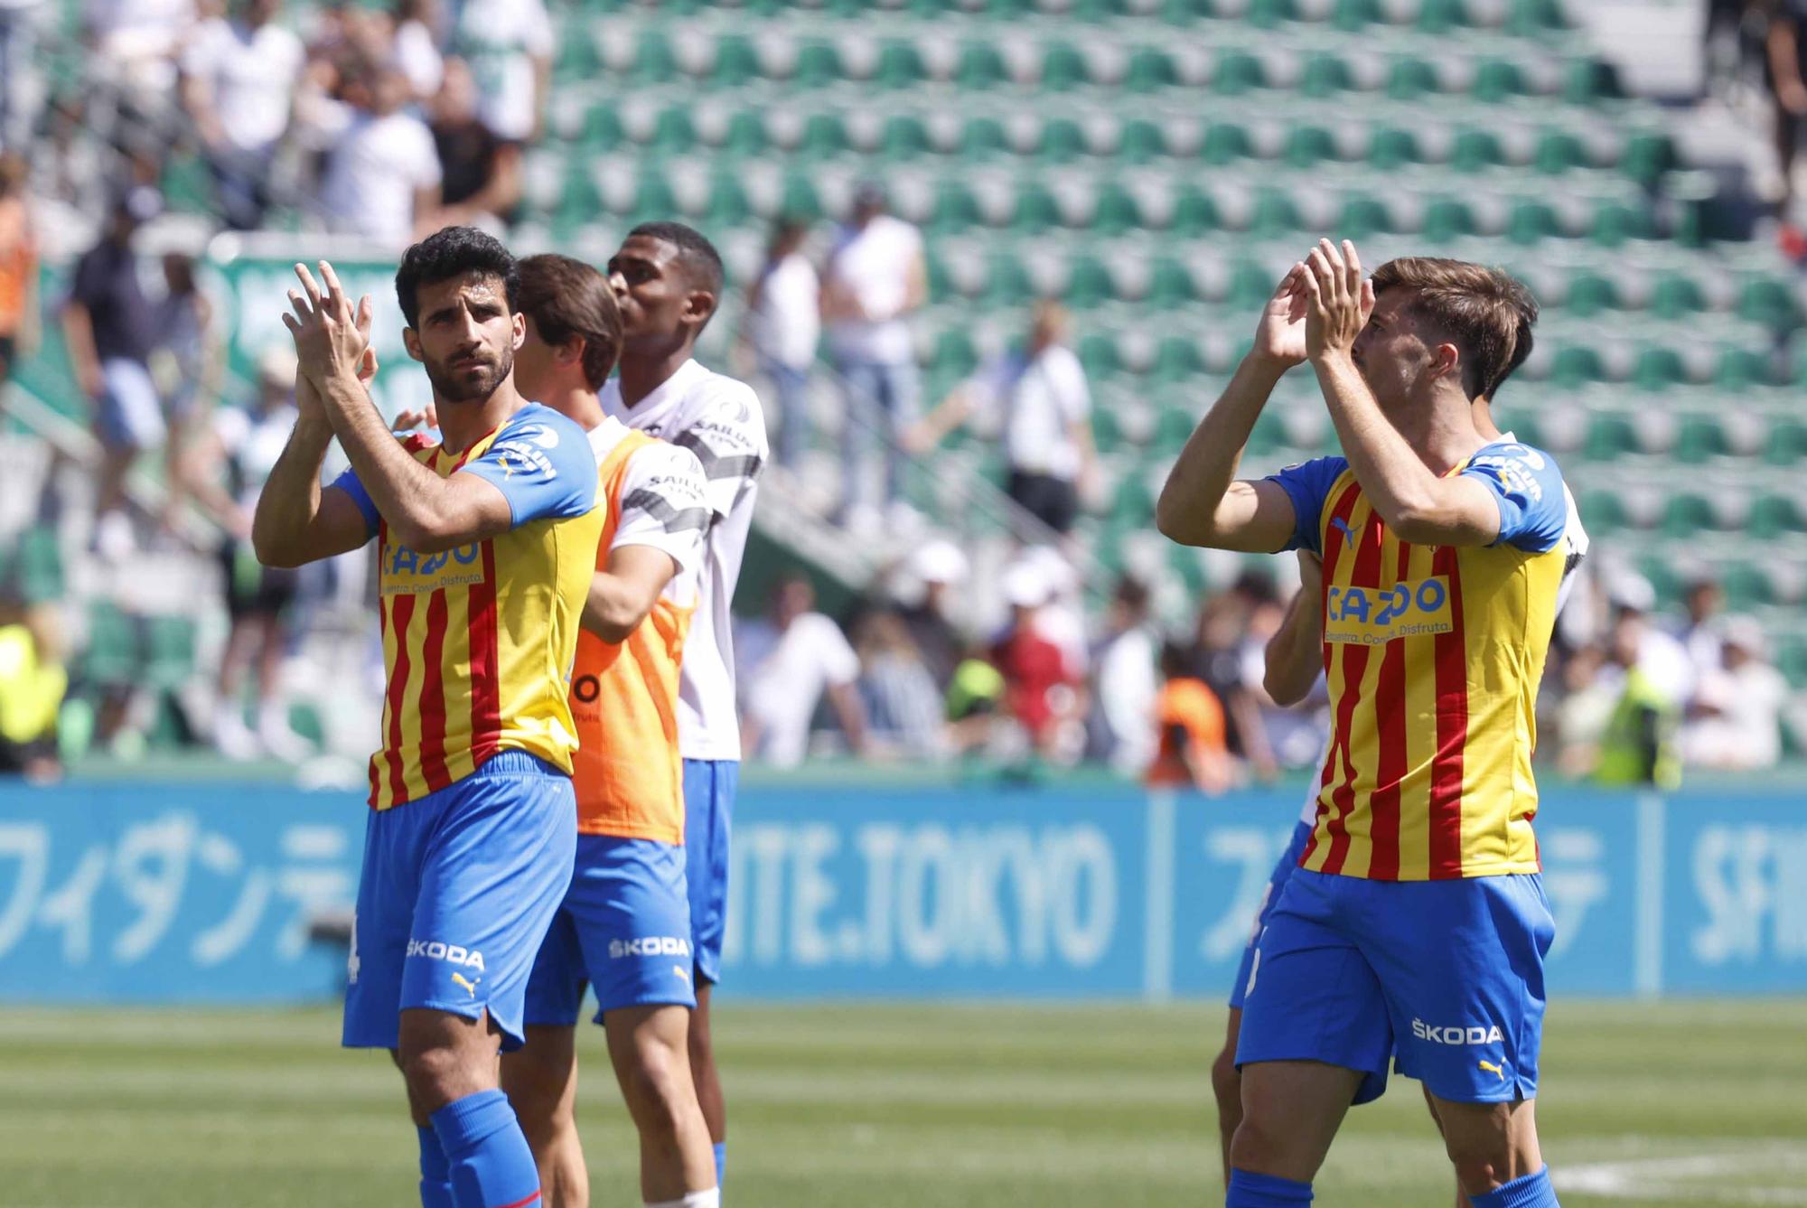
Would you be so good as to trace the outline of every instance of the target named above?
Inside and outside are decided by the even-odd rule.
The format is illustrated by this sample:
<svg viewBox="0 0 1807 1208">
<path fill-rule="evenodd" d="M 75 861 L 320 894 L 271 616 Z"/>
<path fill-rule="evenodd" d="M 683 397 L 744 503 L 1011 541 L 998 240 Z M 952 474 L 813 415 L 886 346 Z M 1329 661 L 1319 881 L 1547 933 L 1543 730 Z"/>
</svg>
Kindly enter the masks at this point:
<svg viewBox="0 0 1807 1208">
<path fill-rule="evenodd" d="M 1511 378 L 1512 373 L 1525 363 L 1525 358 L 1531 356 L 1532 326 L 1538 320 L 1538 302 L 1529 291 L 1523 291 L 1518 298 L 1518 344 L 1512 349 L 1512 360 L 1505 367 L 1505 373 L 1500 374 L 1498 382 L 1494 382 L 1485 394 L 1475 400 L 1475 429 L 1491 441 L 1516 439 L 1512 432 L 1500 432 L 1498 425 L 1494 425 L 1491 400 L 1500 392 L 1500 387 L 1505 385 L 1507 378 Z M 1576 568 L 1581 566 L 1581 561 L 1587 557 L 1590 546 L 1587 530 L 1581 526 L 1581 512 L 1576 508 L 1576 499 L 1568 490 L 1568 483 L 1563 483 L 1563 503 L 1568 508 L 1568 526 L 1563 530 L 1563 546 L 1567 552 L 1567 559 L 1563 562 L 1563 580 L 1556 590 L 1558 617 L 1561 615 L 1563 606 L 1568 604 L 1568 593 L 1576 584 Z M 1317 564 L 1317 555 L 1308 550 L 1301 550 L 1299 593 L 1292 599 L 1292 606 L 1287 609 L 1287 618 L 1281 622 L 1279 629 L 1274 631 L 1274 637 L 1269 638 L 1265 651 L 1263 687 L 1278 705 L 1296 705 L 1305 700 L 1317 684 L 1317 676 L 1323 675 L 1323 606 L 1319 602 L 1323 591 L 1321 575 L 1323 570 Z M 1326 736 L 1325 756 L 1328 756 L 1328 752 Z M 1319 758 L 1319 765 L 1323 765 L 1323 756 Z M 1310 841 L 1312 826 L 1317 823 L 1317 783 L 1319 778 L 1314 776 L 1312 788 L 1305 794 L 1305 808 L 1299 814 L 1297 825 L 1292 828 L 1287 850 L 1274 864 L 1267 890 L 1261 893 L 1261 904 L 1256 910 L 1254 928 L 1249 933 L 1249 944 L 1243 948 L 1241 966 L 1236 969 L 1236 982 L 1231 987 L 1231 1011 L 1223 1049 L 1211 1063 L 1211 1090 L 1218 1101 L 1218 1132 L 1223 1145 L 1225 1179 L 1229 1179 L 1231 1170 L 1231 1137 L 1236 1136 L 1236 1127 L 1241 1123 L 1241 1071 L 1236 1067 L 1236 1040 L 1241 1033 L 1243 995 L 1247 993 L 1249 978 L 1254 973 L 1256 940 L 1261 935 L 1261 928 L 1267 924 L 1269 910 L 1279 901 L 1279 890 L 1287 884 L 1287 877 L 1290 877 L 1292 870 L 1299 866 L 1299 854 Z M 1431 1110 L 1431 1116 L 1437 1116 L 1435 1109 Z M 1460 1188 L 1456 1188 L 1456 1204 L 1458 1208 L 1467 1208 L 1467 1197 Z"/>
</svg>

